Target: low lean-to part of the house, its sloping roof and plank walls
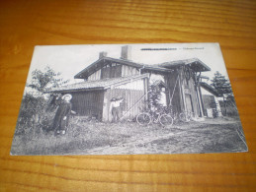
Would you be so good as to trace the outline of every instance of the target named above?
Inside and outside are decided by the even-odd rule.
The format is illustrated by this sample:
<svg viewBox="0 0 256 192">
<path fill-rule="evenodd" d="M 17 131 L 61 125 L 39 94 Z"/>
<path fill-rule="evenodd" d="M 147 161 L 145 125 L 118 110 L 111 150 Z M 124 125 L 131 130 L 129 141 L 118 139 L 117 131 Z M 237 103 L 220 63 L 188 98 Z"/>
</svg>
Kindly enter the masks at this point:
<svg viewBox="0 0 256 192">
<path fill-rule="evenodd" d="M 124 97 L 122 111 L 126 117 L 133 117 L 143 107 L 143 101 L 132 105 L 147 93 L 148 74 L 121 78 L 86 81 L 56 88 L 51 92 L 72 95 L 72 110 L 79 115 L 96 116 L 102 121 L 111 121 L 110 103 L 113 97 Z M 128 111 L 129 110 L 129 111 Z M 125 112 L 128 111 L 126 114 Z"/>
</svg>

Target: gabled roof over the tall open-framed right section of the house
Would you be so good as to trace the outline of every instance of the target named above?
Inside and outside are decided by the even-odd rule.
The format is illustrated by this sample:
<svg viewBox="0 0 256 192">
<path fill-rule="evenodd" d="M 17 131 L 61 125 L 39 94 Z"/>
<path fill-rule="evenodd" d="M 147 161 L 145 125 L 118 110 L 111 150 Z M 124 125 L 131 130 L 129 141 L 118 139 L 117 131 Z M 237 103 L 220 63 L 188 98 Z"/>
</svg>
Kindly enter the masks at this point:
<svg viewBox="0 0 256 192">
<path fill-rule="evenodd" d="M 171 69 L 179 65 L 189 65 L 196 72 L 211 71 L 211 68 L 198 58 L 170 61 L 161 63 L 158 66 Z"/>
</svg>

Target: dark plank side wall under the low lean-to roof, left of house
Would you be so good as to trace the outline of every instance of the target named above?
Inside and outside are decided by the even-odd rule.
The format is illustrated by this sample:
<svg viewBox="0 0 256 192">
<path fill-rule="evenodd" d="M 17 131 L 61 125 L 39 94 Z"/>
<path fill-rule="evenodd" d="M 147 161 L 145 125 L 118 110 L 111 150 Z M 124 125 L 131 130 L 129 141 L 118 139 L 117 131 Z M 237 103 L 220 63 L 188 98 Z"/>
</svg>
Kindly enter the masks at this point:
<svg viewBox="0 0 256 192">
<path fill-rule="evenodd" d="M 102 119 L 103 91 L 72 93 L 72 110 L 79 115 L 97 116 Z"/>
</svg>

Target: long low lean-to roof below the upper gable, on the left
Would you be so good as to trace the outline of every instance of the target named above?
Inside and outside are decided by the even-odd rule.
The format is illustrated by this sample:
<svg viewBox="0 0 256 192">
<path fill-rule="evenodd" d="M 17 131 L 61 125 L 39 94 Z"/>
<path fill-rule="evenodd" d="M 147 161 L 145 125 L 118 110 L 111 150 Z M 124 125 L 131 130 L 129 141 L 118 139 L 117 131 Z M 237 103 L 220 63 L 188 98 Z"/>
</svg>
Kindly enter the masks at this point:
<svg viewBox="0 0 256 192">
<path fill-rule="evenodd" d="M 54 88 L 51 90 L 45 91 L 45 93 L 70 93 L 70 92 L 78 92 L 78 91 L 91 91 L 91 90 L 106 90 L 111 88 L 112 86 L 119 86 L 129 83 L 130 81 L 135 81 L 142 78 L 148 78 L 149 74 L 143 75 L 133 75 L 123 78 L 111 78 L 104 79 L 98 81 L 87 81 L 76 84 L 71 84 L 67 86 L 63 86 L 60 88 Z"/>
</svg>

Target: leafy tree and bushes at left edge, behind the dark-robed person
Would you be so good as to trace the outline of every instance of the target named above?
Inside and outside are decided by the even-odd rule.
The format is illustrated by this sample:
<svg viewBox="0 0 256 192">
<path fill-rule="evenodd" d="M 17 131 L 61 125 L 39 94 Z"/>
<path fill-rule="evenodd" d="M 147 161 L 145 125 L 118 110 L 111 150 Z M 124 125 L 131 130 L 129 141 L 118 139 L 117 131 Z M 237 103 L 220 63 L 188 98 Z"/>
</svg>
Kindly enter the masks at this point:
<svg viewBox="0 0 256 192">
<path fill-rule="evenodd" d="M 55 107 L 51 107 L 51 111 L 45 112 L 49 100 L 45 98 L 43 91 L 59 87 L 68 82 L 63 81 L 59 76 L 60 73 L 55 73 L 49 67 L 46 67 L 43 71 L 35 70 L 32 72 L 32 82 L 27 85 L 28 88 L 32 89 L 32 92 L 27 92 L 23 97 L 17 123 L 17 134 L 24 134 L 29 129 L 34 129 L 34 132 L 36 129 L 49 130 L 51 128 Z"/>
</svg>

